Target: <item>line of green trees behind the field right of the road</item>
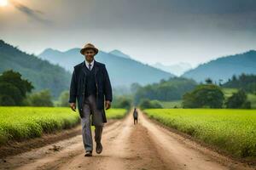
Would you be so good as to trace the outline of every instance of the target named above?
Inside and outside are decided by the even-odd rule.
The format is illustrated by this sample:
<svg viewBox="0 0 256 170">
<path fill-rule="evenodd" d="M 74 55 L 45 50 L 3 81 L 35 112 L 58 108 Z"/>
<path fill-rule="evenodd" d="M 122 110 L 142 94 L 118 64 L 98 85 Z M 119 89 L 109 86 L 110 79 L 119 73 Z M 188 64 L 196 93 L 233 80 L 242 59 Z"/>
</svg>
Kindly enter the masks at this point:
<svg viewBox="0 0 256 170">
<path fill-rule="evenodd" d="M 239 78 L 225 84 L 214 84 L 207 78 L 205 83 L 174 77 L 145 87 L 137 88 L 135 104 L 141 108 L 162 108 L 160 101 L 182 99 L 183 108 L 242 108 L 250 109 L 247 93 L 255 94 L 256 76 L 241 74 Z M 223 88 L 237 88 L 238 91 L 225 98 Z M 160 101 L 159 101 L 160 100 Z M 138 101 L 138 102 L 137 102 Z"/>
</svg>

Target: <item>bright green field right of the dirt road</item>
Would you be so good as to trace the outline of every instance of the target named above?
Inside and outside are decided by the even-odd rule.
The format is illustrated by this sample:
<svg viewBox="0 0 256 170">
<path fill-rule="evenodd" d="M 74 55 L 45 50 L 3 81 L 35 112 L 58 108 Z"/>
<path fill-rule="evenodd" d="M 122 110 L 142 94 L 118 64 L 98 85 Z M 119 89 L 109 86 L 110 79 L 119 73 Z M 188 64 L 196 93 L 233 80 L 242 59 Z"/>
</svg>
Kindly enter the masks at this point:
<svg viewBox="0 0 256 170">
<path fill-rule="evenodd" d="M 256 110 L 148 109 L 144 112 L 233 156 L 256 158 Z"/>
</svg>

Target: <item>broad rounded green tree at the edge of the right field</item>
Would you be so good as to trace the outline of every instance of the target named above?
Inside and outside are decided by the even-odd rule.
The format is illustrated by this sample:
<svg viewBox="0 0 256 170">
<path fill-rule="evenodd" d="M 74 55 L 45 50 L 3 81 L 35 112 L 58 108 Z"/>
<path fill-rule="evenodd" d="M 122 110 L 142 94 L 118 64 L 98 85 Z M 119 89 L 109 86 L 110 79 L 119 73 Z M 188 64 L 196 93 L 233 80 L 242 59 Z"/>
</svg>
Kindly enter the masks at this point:
<svg viewBox="0 0 256 170">
<path fill-rule="evenodd" d="M 197 86 L 192 92 L 183 95 L 184 108 L 222 108 L 224 94 L 214 84 L 203 84 Z"/>
</svg>

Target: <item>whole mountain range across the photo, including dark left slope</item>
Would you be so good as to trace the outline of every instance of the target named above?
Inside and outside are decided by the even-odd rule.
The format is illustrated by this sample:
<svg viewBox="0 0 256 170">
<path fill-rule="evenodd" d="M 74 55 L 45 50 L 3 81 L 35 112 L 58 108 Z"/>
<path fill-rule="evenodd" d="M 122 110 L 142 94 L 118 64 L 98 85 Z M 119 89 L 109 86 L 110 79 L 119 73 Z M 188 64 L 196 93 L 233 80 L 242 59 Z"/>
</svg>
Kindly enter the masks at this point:
<svg viewBox="0 0 256 170">
<path fill-rule="evenodd" d="M 79 54 L 79 50 L 79 48 L 72 48 L 61 52 L 47 48 L 42 54 L 35 56 L 26 54 L 19 48 L 0 40 L 0 73 L 9 69 L 19 71 L 22 77 L 32 82 L 35 91 L 49 88 L 56 98 L 63 90 L 68 90 L 73 66 L 84 61 L 84 56 Z M 117 49 L 108 53 L 99 51 L 95 59 L 106 65 L 113 88 L 130 87 L 133 82 L 146 85 L 175 77 L 167 70 L 162 71 L 168 65 L 154 65 L 162 69 L 160 70 L 152 65 L 143 64 Z M 178 65 L 183 65 L 183 69 L 188 69 L 190 66 L 187 63 Z M 233 75 L 256 74 L 255 65 L 256 51 L 250 50 L 212 59 L 198 65 L 195 69 L 185 71 L 181 77 L 192 78 L 196 82 L 204 82 L 208 77 L 213 82 L 219 80 L 226 82 Z M 172 70 L 172 72 L 175 71 Z"/>
</svg>

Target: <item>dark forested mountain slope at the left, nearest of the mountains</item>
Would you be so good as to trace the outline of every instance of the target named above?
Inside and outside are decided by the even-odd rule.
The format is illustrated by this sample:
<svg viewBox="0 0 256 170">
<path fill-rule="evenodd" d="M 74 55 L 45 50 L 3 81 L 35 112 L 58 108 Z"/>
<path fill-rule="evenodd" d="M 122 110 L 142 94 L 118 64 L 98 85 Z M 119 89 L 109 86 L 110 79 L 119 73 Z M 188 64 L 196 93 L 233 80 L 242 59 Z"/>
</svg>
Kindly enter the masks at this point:
<svg viewBox="0 0 256 170">
<path fill-rule="evenodd" d="M 0 73 L 10 69 L 19 71 L 22 78 L 32 82 L 33 91 L 49 88 L 55 99 L 70 85 L 70 72 L 0 40 Z"/>
</svg>

